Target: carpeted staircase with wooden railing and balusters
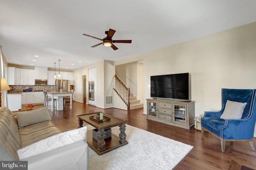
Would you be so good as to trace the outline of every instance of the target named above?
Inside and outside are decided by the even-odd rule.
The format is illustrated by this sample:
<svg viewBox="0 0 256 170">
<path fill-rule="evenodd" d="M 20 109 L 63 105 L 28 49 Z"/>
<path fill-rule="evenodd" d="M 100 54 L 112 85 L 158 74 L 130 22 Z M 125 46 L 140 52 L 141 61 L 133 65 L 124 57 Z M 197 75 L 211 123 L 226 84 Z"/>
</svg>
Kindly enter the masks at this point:
<svg viewBox="0 0 256 170">
<path fill-rule="evenodd" d="M 140 100 L 137 100 L 136 97 L 130 93 L 130 88 L 126 87 L 126 85 L 120 80 L 120 78 L 117 75 L 115 75 L 114 91 L 127 105 L 128 111 L 143 107 L 143 103 L 140 103 Z"/>
</svg>

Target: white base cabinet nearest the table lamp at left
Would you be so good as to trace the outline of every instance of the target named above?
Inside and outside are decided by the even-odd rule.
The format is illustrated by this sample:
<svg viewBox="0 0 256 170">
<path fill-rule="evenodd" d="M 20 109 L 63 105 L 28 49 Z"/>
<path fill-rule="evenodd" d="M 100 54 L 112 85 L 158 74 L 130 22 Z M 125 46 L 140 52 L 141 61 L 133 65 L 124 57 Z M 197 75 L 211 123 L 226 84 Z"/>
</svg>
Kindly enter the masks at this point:
<svg viewBox="0 0 256 170">
<path fill-rule="evenodd" d="M 21 109 L 21 94 L 7 94 L 8 109 L 18 111 Z"/>
</svg>

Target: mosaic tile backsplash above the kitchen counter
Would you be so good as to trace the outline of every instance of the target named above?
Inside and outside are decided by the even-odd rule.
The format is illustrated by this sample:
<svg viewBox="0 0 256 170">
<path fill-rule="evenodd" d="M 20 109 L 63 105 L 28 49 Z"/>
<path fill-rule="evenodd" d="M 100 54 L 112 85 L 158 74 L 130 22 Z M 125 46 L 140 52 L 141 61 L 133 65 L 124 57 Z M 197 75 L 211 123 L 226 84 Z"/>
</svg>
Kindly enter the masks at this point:
<svg viewBox="0 0 256 170">
<path fill-rule="evenodd" d="M 9 85 L 10 89 L 12 90 L 12 93 L 20 93 L 23 90 L 26 89 L 32 89 L 32 91 L 54 91 L 54 85 Z"/>
</svg>

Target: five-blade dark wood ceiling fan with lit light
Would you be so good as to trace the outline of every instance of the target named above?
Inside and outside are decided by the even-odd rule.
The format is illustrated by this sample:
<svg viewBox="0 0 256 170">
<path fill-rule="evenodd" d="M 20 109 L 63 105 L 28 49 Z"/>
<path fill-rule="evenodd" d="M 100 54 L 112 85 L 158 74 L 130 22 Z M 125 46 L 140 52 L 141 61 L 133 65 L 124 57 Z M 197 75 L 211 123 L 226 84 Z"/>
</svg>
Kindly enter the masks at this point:
<svg viewBox="0 0 256 170">
<path fill-rule="evenodd" d="M 117 50 L 118 47 L 116 47 L 113 43 L 132 43 L 132 40 L 112 40 L 112 37 L 114 36 L 115 32 L 116 32 L 115 30 L 112 30 L 110 28 L 108 31 L 105 31 L 105 34 L 107 36 L 103 39 L 100 39 L 94 36 L 89 36 L 87 34 L 83 34 L 83 35 L 103 41 L 102 43 L 98 43 L 96 45 L 93 45 L 92 47 L 97 47 L 98 45 L 103 44 L 106 47 L 112 47 L 112 49 Z"/>
</svg>

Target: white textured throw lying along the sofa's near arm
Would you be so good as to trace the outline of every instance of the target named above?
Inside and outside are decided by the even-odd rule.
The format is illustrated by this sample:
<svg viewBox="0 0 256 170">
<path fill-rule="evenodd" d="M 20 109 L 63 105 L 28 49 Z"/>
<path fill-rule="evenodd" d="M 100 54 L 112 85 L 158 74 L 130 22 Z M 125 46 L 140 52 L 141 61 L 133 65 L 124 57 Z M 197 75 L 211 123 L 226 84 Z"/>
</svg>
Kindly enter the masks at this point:
<svg viewBox="0 0 256 170">
<path fill-rule="evenodd" d="M 77 128 L 74 130 L 68 130 L 63 133 L 50 136 L 22 149 L 19 149 L 18 156 L 20 160 L 24 160 L 31 156 L 35 156 L 49 150 L 53 150 L 80 140 L 84 140 L 87 134 L 87 127 Z"/>
</svg>

